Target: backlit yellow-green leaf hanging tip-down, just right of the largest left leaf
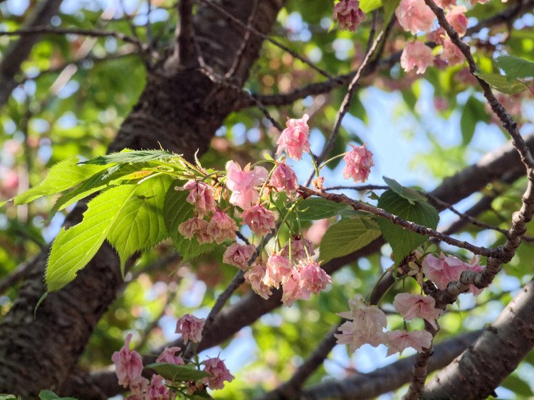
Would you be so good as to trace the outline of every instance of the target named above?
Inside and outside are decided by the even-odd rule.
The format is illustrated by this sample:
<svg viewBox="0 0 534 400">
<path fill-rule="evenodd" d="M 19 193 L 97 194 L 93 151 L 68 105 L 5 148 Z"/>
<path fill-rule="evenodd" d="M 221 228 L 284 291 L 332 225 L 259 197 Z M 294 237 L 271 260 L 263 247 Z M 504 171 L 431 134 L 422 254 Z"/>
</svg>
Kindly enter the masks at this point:
<svg viewBox="0 0 534 400">
<path fill-rule="evenodd" d="M 154 247 L 168 236 L 163 202 L 171 182 L 168 175 L 158 175 L 137 185 L 110 228 L 108 240 L 119 254 L 122 274 L 132 254 Z"/>
</svg>

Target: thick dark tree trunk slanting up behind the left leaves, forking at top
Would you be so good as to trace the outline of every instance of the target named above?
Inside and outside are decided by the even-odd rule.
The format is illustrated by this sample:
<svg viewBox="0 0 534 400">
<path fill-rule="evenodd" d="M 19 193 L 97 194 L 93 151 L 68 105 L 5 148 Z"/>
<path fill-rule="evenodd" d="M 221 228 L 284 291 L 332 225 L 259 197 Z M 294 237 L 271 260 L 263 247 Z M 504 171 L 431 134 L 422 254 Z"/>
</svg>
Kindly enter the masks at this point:
<svg viewBox="0 0 534 400">
<path fill-rule="evenodd" d="M 255 10 L 253 26 L 267 33 L 283 0 L 258 0 L 256 9 L 247 0 L 219 3 L 245 23 Z M 206 66 L 224 74 L 234 65 L 236 82 L 244 82 L 261 40 L 251 36 L 239 50 L 244 32 L 202 6 L 193 26 Z M 234 63 L 238 53 L 239 62 Z M 191 158 L 197 148 L 206 150 L 239 93 L 213 82 L 197 68 L 178 69 L 176 65 L 171 55 L 149 72 L 145 90 L 110 151 L 159 148 L 161 144 Z M 70 215 L 70 223 L 80 219 L 80 208 Z M 23 399 L 36 398 L 43 388 L 61 391 L 95 324 L 122 283 L 117 256 L 105 245 L 75 281 L 43 301 L 34 319 L 36 302 L 45 290 L 45 264 L 43 252 L 33 260 L 31 275 L 0 325 L 0 393 L 18 394 Z"/>
</svg>

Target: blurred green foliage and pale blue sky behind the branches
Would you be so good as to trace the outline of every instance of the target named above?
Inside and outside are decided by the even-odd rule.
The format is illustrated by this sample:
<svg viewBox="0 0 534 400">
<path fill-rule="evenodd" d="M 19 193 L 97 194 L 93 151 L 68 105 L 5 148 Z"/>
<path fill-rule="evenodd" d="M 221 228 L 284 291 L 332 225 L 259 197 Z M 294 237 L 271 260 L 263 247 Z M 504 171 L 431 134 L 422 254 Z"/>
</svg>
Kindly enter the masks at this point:
<svg viewBox="0 0 534 400">
<path fill-rule="evenodd" d="M 164 51 L 172 40 L 177 20 L 173 3 L 65 0 L 52 23 L 63 28 L 117 31 Z M 0 2 L 0 28 L 20 28 L 35 4 L 33 0 Z M 514 1 L 496 0 L 478 4 L 468 12 L 469 26 L 514 4 Z M 371 21 L 376 18 L 379 23 L 382 17 L 380 13 L 367 16 L 367 22 L 357 33 L 348 33 L 333 26 L 332 7 L 333 3 L 325 0 L 289 0 L 278 16 L 272 35 L 330 74 L 345 74 L 355 70 L 362 60 Z M 475 59 L 481 70 L 498 72 L 493 59 L 507 53 L 534 60 L 533 26 L 533 14 L 526 13 L 508 25 L 489 26 L 474 35 Z M 13 40 L 16 37 L 0 36 L 0 57 Z M 383 57 L 402 50 L 407 40 L 411 40 L 409 35 L 395 25 L 384 46 Z M 105 153 L 145 86 L 144 63 L 135 46 L 114 38 L 44 36 L 23 63 L 23 71 L 17 77 L 19 85 L 9 102 L 0 109 L 1 198 L 11 198 L 36 185 L 50 166 L 68 156 L 93 158 Z M 324 79 L 292 55 L 265 43 L 246 82 L 246 90 L 255 94 L 279 94 Z M 367 141 L 378 164 L 372 183 L 382 184 L 381 173 L 392 171 L 389 175 L 404 185 L 431 190 L 446 176 L 506 141 L 473 83 L 466 65 L 430 67 L 424 75 L 406 74 L 398 63 L 379 65 L 376 72 L 363 80 L 334 151 L 345 151 L 349 141 Z M 317 152 L 332 129 L 345 90 L 346 87 L 340 87 L 291 105 L 268 109 L 280 122 L 303 112 L 310 114 L 312 146 Z M 534 131 L 532 92 L 499 94 L 499 99 L 519 122 L 524 134 Z M 223 168 L 229 159 L 244 164 L 260 157 L 263 151 L 273 153 L 276 138 L 276 131 L 261 111 L 255 107 L 243 109 L 226 119 L 202 162 L 218 168 Z M 330 167 L 325 173 L 328 185 L 340 183 L 340 168 L 336 163 Z M 309 171 L 306 167 L 299 172 L 305 177 Z M 491 183 L 483 193 L 471 196 L 459 208 L 466 210 L 483 195 L 498 193 L 491 209 L 480 217 L 484 222 L 507 229 L 511 212 L 520 206 L 524 187 L 523 179 L 511 185 Z M 43 226 L 52 204 L 53 199 L 48 198 L 0 209 L 0 281 L 20 269 L 58 232 L 65 214 L 58 213 L 50 225 Z M 445 212 L 441 221 L 446 225 L 451 215 Z M 502 235 L 469 225 L 459 236 L 463 235 L 485 246 L 503 242 Z M 534 227 L 528 228 L 528 235 L 534 237 Z M 133 342 L 137 350 L 146 354 L 177 336 L 174 325 L 180 315 L 205 316 L 214 297 L 236 272 L 230 266 L 221 265 L 221 254 L 222 249 L 216 249 L 191 263 L 181 264 L 169 243 L 143 254 L 127 274 L 127 284 L 117 301 L 100 320 L 80 366 L 95 369 L 110 364 L 112 352 L 121 347 L 125 332 L 135 334 Z M 459 252 L 459 255 L 465 254 Z M 441 320 L 442 330 L 437 340 L 490 323 L 520 286 L 531 279 L 533 260 L 534 244 L 526 240 L 491 288 L 478 298 L 461 296 L 461 301 L 451 307 Z M 334 285 L 320 296 L 264 315 L 252 327 L 241 330 L 231 342 L 209 350 L 210 355 L 222 352 L 237 378 L 214 395 L 252 398 L 289 379 L 298 364 L 337 323 L 335 313 L 347 309 L 347 299 L 355 293 L 365 296 L 381 272 L 391 265 L 389 250 L 384 247 L 381 254 L 360 259 L 338 271 L 333 276 Z M 18 288 L 18 283 L 3 288 L 0 318 L 13 305 Z M 387 294 L 384 309 L 392 310 L 388 303 L 399 289 L 402 288 L 394 288 Z M 247 291 L 246 286 L 239 288 L 231 303 L 236 303 Z M 401 323 L 394 318 L 390 320 L 392 325 Z M 384 355 L 384 349 L 367 346 L 349 355 L 344 346 L 337 346 L 309 382 L 367 372 L 397 357 L 384 360 Z M 534 396 L 534 384 L 528 378 L 533 376 L 533 365 L 534 354 L 531 354 L 498 393 L 503 398 Z"/>
</svg>

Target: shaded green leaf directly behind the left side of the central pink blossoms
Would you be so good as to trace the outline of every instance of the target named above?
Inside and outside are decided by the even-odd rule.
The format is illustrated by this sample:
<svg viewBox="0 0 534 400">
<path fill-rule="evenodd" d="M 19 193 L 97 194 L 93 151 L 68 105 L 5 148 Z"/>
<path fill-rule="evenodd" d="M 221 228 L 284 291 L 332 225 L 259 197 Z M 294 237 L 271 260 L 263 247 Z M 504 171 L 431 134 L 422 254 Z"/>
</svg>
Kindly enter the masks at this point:
<svg viewBox="0 0 534 400">
<path fill-rule="evenodd" d="M 185 200 L 189 192 L 174 190 L 174 186 L 181 185 L 179 182 L 179 180 L 174 180 L 167 190 L 163 204 L 163 217 L 174 247 L 182 259 L 187 261 L 214 249 L 215 244 L 200 244 L 197 239 L 186 239 L 178 233 L 178 225 L 193 217 L 193 206 Z"/>
</svg>

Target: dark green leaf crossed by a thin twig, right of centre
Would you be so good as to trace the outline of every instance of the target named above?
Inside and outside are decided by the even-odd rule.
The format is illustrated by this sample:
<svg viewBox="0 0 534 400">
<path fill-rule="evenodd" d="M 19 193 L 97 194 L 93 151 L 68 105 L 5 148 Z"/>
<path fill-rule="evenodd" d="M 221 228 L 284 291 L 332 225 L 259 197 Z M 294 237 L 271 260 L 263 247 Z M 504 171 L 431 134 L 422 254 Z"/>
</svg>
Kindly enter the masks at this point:
<svg viewBox="0 0 534 400">
<path fill-rule="evenodd" d="M 378 207 L 391 212 L 393 215 L 398 215 L 404 220 L 416 222 L 432 229 L 436 229 L 439 222 L 438 212 L 429 203 L 409 202 L 393 190 L 386 190 L 382 193 L 378 200 Z M 404 229 L 385 218 L 379 217 L 378 225 L 384 239 L 391 245 L 397 263 L 402 261 L 419 244 L 426 241 L 426 236 Z"/>
</svg>

